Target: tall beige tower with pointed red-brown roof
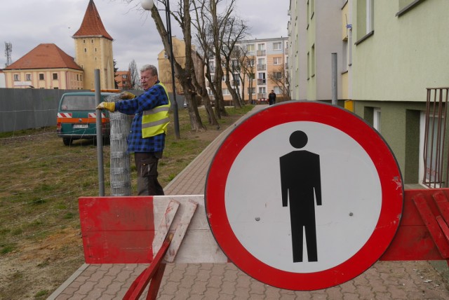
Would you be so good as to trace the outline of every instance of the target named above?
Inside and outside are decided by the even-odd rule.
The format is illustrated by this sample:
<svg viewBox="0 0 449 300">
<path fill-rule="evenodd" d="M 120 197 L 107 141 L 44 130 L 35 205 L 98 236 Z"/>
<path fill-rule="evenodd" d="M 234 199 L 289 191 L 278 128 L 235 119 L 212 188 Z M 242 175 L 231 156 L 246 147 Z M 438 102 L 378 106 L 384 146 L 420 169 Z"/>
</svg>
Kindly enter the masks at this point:
<svg viewBox="0 0 449 300">
<path fill-rule="evenodd" d="M 75 41 L 75 61 L 84 70 L 83 88 L 94 88 L 95 69 L 100 70 L 100 88 L 114 88 L 113 39 L 107 33 L 93 0 L 89 1 L 81 27 L 72 37 Z"/>
</svg>

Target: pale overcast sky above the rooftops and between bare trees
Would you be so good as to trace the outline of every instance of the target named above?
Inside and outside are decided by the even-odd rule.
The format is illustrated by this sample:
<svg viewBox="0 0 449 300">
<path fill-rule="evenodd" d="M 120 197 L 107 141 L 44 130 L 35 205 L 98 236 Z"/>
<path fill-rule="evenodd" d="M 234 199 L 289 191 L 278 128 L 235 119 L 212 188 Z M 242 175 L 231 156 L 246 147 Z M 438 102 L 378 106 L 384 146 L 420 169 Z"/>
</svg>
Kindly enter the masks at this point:
<svg viewBox="0 0 449 300">
<path fill-rule="evenodd" d="M 140 8 L 140 0 L 126 4 L 122 0 L 94 0 L 103 25 L 112 36 L 114 60 L 119 70 L 128 69 L 135 60 L 157 66 L 157 55 L 163 50 L 154 21 Z M 21 0 L 2 1 L 0 13 L 0 69 L 5 67 L 5 42 L 12 44 L 13 62 L 39 45 L 55 43 L 74 57 L 73 34 L 79 29 L 89 0 Z M 289 0 L 236 0 L 236 15 L 250 27 L 248 39 L 287 36 Z M 172 11 L 177 1 L 170 1 Z M 182 39 L 172 18 L 173 35 Z"/>
</svg>

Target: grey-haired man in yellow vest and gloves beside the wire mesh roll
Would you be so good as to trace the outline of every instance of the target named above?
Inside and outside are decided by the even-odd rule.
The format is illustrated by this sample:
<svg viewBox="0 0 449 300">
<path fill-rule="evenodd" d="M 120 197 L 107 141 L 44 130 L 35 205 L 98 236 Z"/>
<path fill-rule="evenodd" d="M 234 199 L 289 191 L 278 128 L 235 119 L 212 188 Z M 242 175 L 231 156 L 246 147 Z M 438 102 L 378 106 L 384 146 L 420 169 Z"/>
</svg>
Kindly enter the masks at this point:
<svg viewBox="0 0 449 300">
<path fill-rule="evenodd" d="M 128 135 L 128 151 L 134 152 L 138 171 L 138 195 L 163 195 L 157 180 L 157 165 L 165 146 L 170 100 L 166 88 L 159 82 L 157 69 L 146 64 L 140 69 L 140 82 L 145 93 L 135 96 L 120 94 L 123 101 L 101 102 L 97 109 L 134 114 Z"/>
</svg>

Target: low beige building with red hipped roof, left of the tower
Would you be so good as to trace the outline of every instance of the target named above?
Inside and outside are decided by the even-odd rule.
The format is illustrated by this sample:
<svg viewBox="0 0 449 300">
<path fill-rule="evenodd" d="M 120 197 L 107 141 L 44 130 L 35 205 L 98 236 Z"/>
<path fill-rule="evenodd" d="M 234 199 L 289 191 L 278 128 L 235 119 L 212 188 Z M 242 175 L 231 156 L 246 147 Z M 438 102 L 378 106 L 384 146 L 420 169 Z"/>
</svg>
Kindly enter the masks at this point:
<svg viewBox="0 0 449 300">
<path fill-rule="evenodd" d="M 83 88 L 83 69 L 54 43 L 41 43 L 4 69 L 6 88 Z"/>
</svg>

